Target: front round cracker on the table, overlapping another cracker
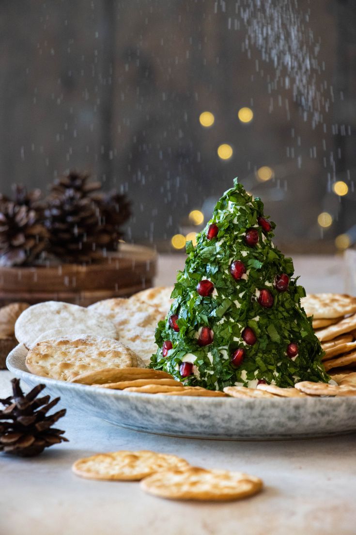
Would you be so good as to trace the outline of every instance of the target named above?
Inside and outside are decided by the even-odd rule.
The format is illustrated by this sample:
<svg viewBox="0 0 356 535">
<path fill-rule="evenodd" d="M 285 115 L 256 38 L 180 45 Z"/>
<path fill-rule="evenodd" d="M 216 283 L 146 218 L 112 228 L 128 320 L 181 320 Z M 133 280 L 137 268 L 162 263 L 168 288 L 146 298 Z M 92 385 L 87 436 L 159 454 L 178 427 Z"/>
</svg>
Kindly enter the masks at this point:
<svg viewBox="0 0 356 535">
<path fill-rule="evenodd" d="M 258 477 L 228 470 L 191 467 L 155 473 L 140 483 L 141 488 L 171 500 L 229 501 L 257 494 L 262 489 Z"/>
</svg>

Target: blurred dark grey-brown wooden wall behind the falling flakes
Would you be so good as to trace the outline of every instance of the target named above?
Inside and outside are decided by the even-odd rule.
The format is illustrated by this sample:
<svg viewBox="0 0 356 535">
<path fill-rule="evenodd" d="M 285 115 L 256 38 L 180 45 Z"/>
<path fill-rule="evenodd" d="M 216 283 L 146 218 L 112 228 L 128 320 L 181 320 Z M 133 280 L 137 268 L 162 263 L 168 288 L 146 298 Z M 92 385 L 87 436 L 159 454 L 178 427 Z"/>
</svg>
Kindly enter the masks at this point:
<svg viewBox="0 0 356 535">
<path fill-rule="evenodd" d="M 276 0 L 276 10 L 282 4 Z M 90 171 L 133 201 L 128 241 L 171 250 L 173 235 L 201 228 L 190 211 L 210 218 L 238 175 L 265 201 L 282 249 L 352 244 L 355 5 L 288 7 L 309 43 L 298 56 L 318 52 L 315 85 L 324 93 L 314 126 L 303 95 L 280 83 L 280 66 L 264 62 L 248 39 L 259 21 L 256 0 L 2 0 L 1 191 L 14 182 L 46 190 L 69 169 Z M 238 118 L 244 107 L 253 112 L 249 123 Z M 209 128 L 199 122 L 204 111 L 214 115 Z M 226 160 L 217 152 L 223 143 L 233 149 Z M 271 178 L 261 180 L 266 166 Z M 340 181 L 346 195 L 333 190 Z M 318 223 L 324 212 L 331 220 Z"/>
</svg>

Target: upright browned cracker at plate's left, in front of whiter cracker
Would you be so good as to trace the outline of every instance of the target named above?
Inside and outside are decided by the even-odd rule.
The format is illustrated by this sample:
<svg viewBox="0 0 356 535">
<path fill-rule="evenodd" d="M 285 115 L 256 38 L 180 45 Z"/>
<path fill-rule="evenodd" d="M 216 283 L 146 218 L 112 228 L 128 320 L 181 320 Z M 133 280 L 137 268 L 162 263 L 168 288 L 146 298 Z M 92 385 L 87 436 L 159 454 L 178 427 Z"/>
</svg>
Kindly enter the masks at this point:
<svg viewBox="0 0 356 535">
<path fill-rule="evenodd" d="M 81 373 L 107 368 L 136 366 L 134 351 L 117 340 L 102 337 L 53 339 L 30 349 L 26 366 L 31 373 L 69 381 Z"/>
</svg>

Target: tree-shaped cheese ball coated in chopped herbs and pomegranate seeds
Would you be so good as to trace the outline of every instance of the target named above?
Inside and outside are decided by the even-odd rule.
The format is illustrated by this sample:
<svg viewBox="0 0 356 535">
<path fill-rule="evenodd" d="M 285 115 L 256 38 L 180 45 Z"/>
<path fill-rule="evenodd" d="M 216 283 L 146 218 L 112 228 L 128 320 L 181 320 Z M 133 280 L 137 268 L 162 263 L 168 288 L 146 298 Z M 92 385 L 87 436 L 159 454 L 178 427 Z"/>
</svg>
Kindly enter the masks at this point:
<svg viewBox="0 0 356 535">
<path fill-rule="evenodd" d="M 151 367 L 185 384 L 229 385 L 328 381 L 293 263 L 273 244 L 275 224 L 237 179 L 213 217 L 187 244 Z"/>
</svg>

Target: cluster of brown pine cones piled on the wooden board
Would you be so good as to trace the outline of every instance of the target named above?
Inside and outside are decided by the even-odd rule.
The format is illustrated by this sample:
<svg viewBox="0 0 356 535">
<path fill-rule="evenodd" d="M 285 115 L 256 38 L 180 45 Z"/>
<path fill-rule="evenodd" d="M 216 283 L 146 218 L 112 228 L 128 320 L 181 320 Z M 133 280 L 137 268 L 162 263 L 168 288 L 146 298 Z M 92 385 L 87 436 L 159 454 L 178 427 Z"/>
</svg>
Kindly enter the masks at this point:
<svg viewBox="0 0 356 535">
<path fill-rule="evenodd" d="M 14 187 L 0 195 L 0 266 L 32 265 L 42 253 L 61 262 L 89 263 L 115 251 L 130 203 L 117 192 L 100 192 L 88 174 L 57 179 L 44 200 L 41 191 Z"/>
</svg>

